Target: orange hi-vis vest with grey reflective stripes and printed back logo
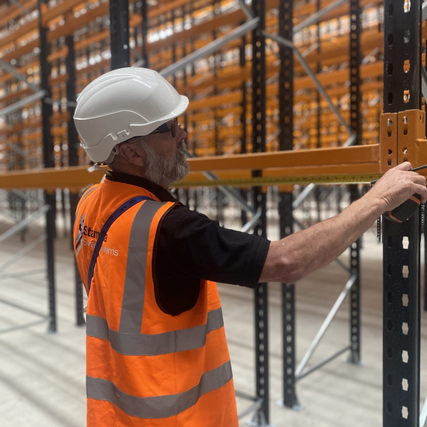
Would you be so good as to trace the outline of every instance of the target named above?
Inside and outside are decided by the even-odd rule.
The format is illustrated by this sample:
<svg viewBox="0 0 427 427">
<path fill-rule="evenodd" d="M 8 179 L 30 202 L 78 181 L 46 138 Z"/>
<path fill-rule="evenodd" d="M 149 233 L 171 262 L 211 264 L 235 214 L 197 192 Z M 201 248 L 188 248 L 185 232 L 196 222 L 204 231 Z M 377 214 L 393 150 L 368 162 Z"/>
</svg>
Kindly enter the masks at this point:
<svg viewBox="0 0 427 427">
<path fill-rule="evenodd" d="M 201 280 L 195 306 L 178 316 L 156 302 L 156 235 L 174 205 L 110 180 L 80 199 L 88 427 L 238 426 L 216 284 Z"/>
</svg>

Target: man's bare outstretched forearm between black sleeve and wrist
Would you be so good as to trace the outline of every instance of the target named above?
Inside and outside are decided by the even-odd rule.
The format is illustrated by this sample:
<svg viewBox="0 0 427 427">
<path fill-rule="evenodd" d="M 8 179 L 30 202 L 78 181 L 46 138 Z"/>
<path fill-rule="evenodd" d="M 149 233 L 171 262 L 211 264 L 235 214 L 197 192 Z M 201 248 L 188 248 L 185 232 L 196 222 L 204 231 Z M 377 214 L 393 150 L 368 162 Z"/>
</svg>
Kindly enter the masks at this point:
<svg viewBox="0 0 427 427">
<path fill-rule="evenodd" d="M 325 266 L 342 254 L 385 210 L 377 199 L 364 196 L 333 218 L 272 242 L 260 281 L 293 283 Z"/>
</svg>

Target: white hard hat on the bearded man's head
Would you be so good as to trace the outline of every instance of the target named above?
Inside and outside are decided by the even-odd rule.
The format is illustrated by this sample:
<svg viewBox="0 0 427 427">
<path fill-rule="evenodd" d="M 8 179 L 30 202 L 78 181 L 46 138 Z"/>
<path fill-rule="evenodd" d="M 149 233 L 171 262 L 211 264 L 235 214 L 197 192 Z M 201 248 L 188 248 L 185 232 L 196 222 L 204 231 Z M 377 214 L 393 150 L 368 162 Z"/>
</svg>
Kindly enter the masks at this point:
<svg viewBox="0 0 427 427">
<path fill-rule="evenodd" d="M 188 98 L 179 95 L 157 71 L 119 68 L 83 89 L 74 123 L 86 153 L 100 162 L 107 160 L 116 144 L 148 135 L 187 106 Z"/>
</svg>

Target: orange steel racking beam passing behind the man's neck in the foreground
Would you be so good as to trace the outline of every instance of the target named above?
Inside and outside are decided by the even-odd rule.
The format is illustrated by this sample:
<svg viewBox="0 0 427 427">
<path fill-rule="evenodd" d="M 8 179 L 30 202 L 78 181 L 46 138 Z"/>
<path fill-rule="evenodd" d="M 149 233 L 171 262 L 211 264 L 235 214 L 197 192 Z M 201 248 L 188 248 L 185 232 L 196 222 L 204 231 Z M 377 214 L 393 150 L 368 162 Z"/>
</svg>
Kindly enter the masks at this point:
<svg viewBox="0 0 427 427">
<path fill-rule="evenodd" d="M 286 151 L 274 153 L 253 153 L 229 155 L 227 157 L 192 158 L 190 175 L 194 179 L 205 170 L 228 170 L 228 176 L 246 176 L 250 170 L 265 169 L 264 176 L 296 176 L 319 171 L 322 173 L 354 173 L 355 170 L 379 171 L 378 145 L 347 148 L 325 148 L 315 150 Z M 298 165 L 295 167 L 294 165 Z M 278 168 L 278 169 L 275 169 Z M 0 173 L 0 188 L 72 188 L 74 190 L 98 182 L 102 172 L 87 172 L 87 167 L 49 168 Z M 287 175 L 288 174 L 288 175 Z M 224 176 L 224 175 L 222 175 Z"/>
</svg>

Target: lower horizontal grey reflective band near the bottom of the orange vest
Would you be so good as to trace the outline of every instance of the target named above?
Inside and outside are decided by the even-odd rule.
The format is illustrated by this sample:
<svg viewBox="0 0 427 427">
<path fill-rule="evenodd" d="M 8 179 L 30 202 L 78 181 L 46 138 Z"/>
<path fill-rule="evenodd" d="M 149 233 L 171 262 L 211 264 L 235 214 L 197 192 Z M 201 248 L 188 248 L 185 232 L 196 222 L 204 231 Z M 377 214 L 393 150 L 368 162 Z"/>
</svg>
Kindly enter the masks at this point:
<svg viewBox="0 0 427 427">
<path fill-rule="evenodd" d="M 134 417 L 166 418 L 192 407 L 200 396 L 219 389 L 232 377 L 231 363 L 228 360 L 218 368 L 205 372 L 199 384 L 193 388 L 175 395 L 138 398 L 122 392 L 111 381 L 94 377 L 86 377 L 86 392 L 88 398 L 111 402 Z"/>
</svg>

